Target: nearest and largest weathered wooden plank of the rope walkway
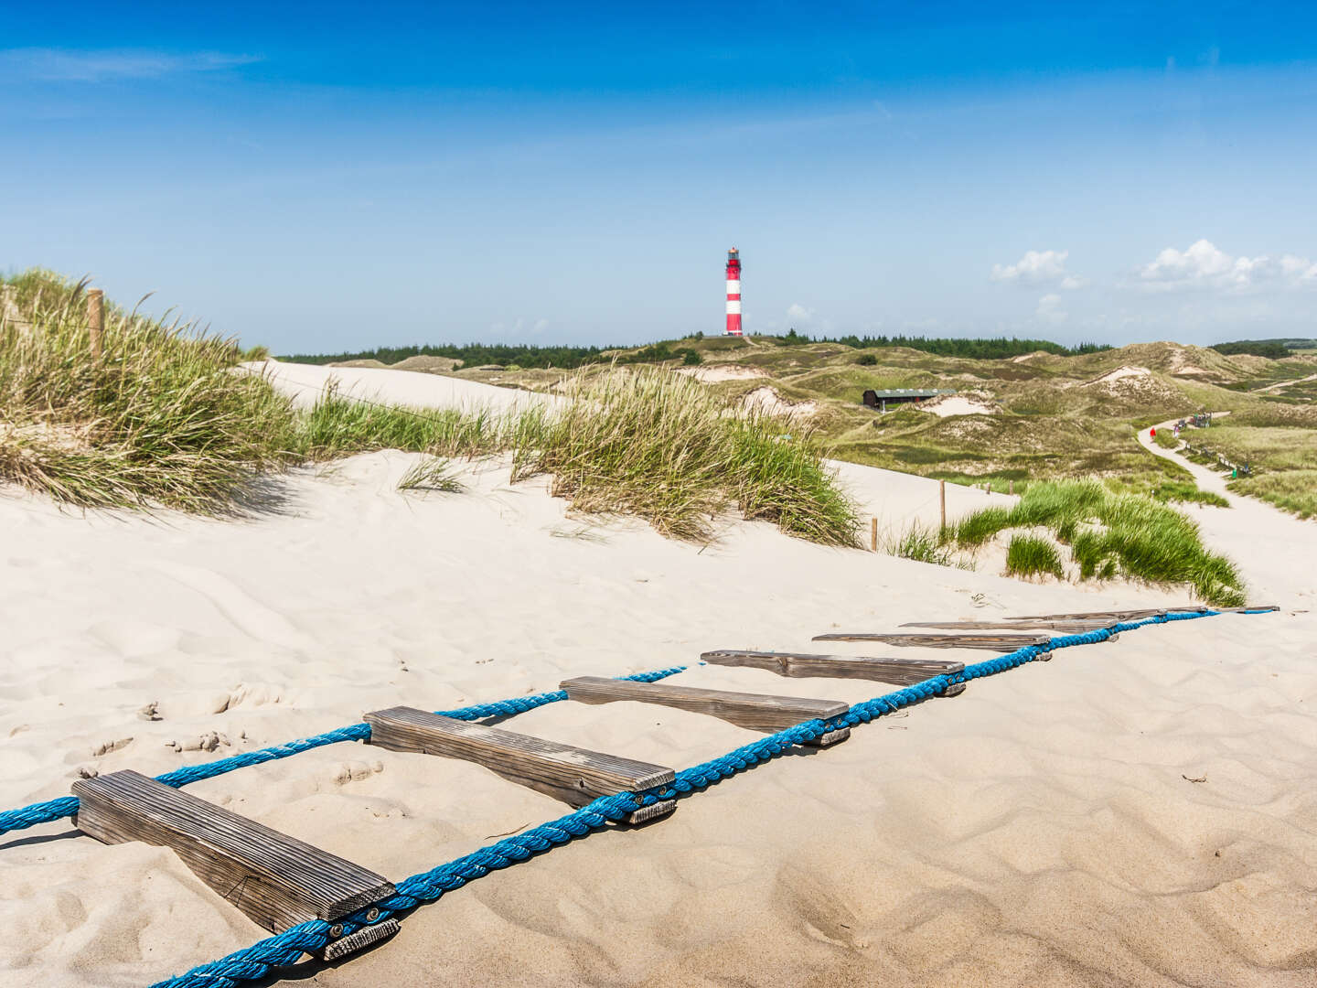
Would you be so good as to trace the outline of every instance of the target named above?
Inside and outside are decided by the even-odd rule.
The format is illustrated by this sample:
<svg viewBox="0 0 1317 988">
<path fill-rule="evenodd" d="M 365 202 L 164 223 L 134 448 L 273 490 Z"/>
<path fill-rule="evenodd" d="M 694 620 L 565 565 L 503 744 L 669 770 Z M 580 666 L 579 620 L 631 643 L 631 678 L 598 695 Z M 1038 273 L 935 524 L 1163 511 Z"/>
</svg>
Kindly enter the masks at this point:
<svg viewBox="0 0 1317 988">
<path fill-rule="evenodd" d="M 137 772 L 80 779 L 74 796 L 84 834 L 173 848 L 202 881 L 275 933 L 338 919 L 394 893 L 360 864 Z"/>
</svg>

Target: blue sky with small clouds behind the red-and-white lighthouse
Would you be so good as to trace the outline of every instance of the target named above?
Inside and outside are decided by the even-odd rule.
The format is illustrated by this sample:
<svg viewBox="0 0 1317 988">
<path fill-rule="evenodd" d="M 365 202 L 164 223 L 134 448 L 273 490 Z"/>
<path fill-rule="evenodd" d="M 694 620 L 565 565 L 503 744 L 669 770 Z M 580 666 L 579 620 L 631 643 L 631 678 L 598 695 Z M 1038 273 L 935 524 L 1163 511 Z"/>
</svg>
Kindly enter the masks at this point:
<svg viewBox="0 0 1317 988">
<path fill-rule="evenodd" d="M 5 11 L 0 267 L 277 352 L 1317 336 L 1317 8 Z"/>
</svg>

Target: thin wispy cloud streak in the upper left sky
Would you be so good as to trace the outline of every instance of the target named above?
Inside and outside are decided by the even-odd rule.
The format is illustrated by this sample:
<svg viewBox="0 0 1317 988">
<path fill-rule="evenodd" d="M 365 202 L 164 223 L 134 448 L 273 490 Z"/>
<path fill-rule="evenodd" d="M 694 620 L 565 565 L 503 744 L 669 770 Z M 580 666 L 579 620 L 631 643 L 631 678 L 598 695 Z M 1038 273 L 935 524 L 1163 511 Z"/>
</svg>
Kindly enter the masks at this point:
<svg viewBox="0 0 1317 988">
<path fill-rule="evenodd" d="M 74 50 L 18 47 L 0 50 L 0 70 L 37 82 L 104 83 L 215 72 L 259 62 L 261 55 L 221 51 Z"/>
</svg>

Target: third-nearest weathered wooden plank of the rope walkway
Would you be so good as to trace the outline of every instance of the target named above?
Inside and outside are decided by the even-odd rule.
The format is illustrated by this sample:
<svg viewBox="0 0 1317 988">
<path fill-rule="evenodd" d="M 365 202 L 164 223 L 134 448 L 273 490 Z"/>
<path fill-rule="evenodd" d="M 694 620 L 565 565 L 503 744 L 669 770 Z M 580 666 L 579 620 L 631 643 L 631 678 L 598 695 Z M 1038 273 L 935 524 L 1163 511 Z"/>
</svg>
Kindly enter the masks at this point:
<svg viewBox="0 0 1317 988">
<path fill-rule="evenodd" d="M 827 721 L 840 717 L 851 709 L 840 700 L 810 700 L 807 697 L 777 697 L 766 693 L 734 693 L 722 689 L 699 689 L 695 686 L 674 686 L 668 682 L 631 682 L 628 680 L 606 680 L 599 676 L 579 676 L 564 680 L 558 689 L 565 689 L 569 700 L 582 703 L 612 703 L 633 700 L 641 703 L 658 703 L 678 710 L 707 714 L 720 721 L 728 721 L 752 731 L 781 731 L 801 721 Z M 842 734 L 844 731 L 844 734 Z M 838 735 L 840 736 L 832 736 Z M 823 735 L 818 744 L 834 744 L 844 740 L 849 728 Z"/>
</svg>

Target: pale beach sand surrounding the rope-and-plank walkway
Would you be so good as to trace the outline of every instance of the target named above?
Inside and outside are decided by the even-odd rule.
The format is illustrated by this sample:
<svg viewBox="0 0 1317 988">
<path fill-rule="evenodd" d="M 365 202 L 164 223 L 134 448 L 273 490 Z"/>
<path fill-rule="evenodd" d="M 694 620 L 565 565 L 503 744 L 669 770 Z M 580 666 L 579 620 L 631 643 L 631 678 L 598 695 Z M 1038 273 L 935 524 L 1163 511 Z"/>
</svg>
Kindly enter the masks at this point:
<svg viewBox="0 0 1317 988">
<path fill-rule="evenodd" d="M 449 383 L 362 381 L 420 400 L 412 377 Z M 63 796 L 79 771 L 155 775 L 365 710 L 709 648 L 1184 599 L 826 549 L 761 523 L 686 545 L 569 518 L 545 483 L 508 486 L 493 465 L 466 470 L 468 493 L 404 498 L 412 461 L 296 474 L 278 511 L 246 522 L 0 498 L 0 806 Z M 885 520 L 936 519 L 934 482 L 843 474 Z M 952 486 L 948 501 L 952 516 L 1005 503 Z M 1201 518 L 1255 598 L 1313 605 L 1310 523 L 1242 506 Z M 1287 611 L 1062 652 L 724 781 L 664 822 L 494 873 L 313 983 L 1312 985 L 1314 635 L 1312 614 Z M 676 681 L 848 701 L 889 689 L 718 667 Z M 159 719 L 140 713 L 151 705 Z M 676 768 L 760 736 L 633 703 L 554 703 L 506 726 Z M 186 750 L 212 734 L 229 744 Z M 394 879 L 565 811 L 474 765 L 360 744 L 188 792 Z M 263 935 L 171 852 L 67 822 L 0 838 L 0 921 L 5 985 L 144 984 Z"/>
</svg>

